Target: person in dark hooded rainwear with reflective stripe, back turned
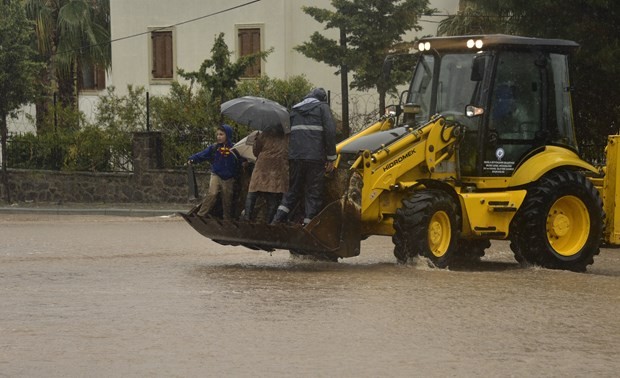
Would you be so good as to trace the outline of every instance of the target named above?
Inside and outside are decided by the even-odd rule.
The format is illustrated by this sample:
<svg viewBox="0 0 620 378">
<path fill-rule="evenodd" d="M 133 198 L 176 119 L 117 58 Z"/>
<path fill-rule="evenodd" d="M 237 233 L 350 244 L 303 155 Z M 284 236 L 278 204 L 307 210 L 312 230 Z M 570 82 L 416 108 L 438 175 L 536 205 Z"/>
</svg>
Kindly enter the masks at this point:
<svg viewBox="0 0 620 378">
<path fill-rule="evenodd" d="M 288 220 L 291 210 L 304 197 L 304 225 L 323 206 L 325 173 L 336 161 L 336 123 L 327 105 L 327 93 L 315 88 L 291 110 L 289 137 L 289 190 L 272 223 Z"/>
</svg>

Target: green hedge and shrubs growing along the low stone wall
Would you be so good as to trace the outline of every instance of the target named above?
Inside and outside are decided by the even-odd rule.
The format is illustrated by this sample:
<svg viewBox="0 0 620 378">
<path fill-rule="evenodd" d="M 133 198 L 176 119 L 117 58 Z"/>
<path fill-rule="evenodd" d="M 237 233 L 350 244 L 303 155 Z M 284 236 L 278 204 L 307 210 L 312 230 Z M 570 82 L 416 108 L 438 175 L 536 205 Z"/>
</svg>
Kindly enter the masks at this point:
<svg viewBox="0 0 620 378">
<path fill-rule="evenodd" d="M 311 89 L 303 76 L 287 80 L 263 77 L 246 80 L 236 96 L 260 96 L 291 107 Z M 113 87 L 100 96 L 94 122 L 71 108 L 57 106 L 48 112 L 39 132 L 12 135 L 7 145 L 11 168 L 63 171 L 128 171 L 132 169 L 132 135 L 136 131 L 160 131 L 165 168 L 178 168 L 187 158 L 215 142 L 220 124 L 219 108 L 207 91 L 173 83 L 169 94 L 150 98 L 150 124 L 146 124 L 146 90 L 129 86 L 119 96 Z M 250 130 L 225 120 L 235 129 L 235 138 Z"/>
</svg>

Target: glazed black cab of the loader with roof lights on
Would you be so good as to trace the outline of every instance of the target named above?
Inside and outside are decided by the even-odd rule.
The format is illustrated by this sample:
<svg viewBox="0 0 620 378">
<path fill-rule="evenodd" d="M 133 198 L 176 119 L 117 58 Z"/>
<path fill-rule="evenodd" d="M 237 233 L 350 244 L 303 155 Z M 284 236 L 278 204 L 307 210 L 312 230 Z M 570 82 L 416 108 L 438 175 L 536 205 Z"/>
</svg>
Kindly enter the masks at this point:
<svg viewBox="0 0 620 378">
<path fill-rule="evenodd" d="M 577 47 L 507 35 L 422 39 L 404 121 L 442 114 L 465 126 L 464 177 L 511 176 L 547 145 L 577 150 L 567 58 Z"/>
</svg>

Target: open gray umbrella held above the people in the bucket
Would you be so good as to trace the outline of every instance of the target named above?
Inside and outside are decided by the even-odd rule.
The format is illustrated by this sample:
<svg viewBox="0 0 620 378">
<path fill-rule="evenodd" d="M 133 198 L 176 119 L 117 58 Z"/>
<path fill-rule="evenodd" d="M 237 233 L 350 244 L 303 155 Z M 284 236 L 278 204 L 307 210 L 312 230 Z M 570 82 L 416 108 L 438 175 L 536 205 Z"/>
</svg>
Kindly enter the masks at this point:
<svg viewBox="0 0 620 378">
<path fill-rule="evenodd" d="M 282 127 L 291 132 L 288 110 L 275 101 L 262 97 L 244 96 L 226 101 L 221 106 L 222 114 L 254 130 Z"/>
</svg>

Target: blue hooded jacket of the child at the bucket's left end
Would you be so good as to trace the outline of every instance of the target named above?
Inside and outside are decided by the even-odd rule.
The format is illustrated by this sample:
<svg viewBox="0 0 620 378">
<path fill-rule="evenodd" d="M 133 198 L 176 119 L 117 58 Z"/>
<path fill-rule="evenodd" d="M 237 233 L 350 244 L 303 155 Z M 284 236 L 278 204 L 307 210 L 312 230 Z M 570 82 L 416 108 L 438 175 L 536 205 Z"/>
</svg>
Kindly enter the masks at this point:
<svg viewBox="0 0 620 378">
<path fill-rule="evenodd" d="M 222 128 L 226 133 L 225 143 L 212 144 L 204 151 L 190 156 L 189 160 L 192 163 L 208 161 L 211 163 L 211 172 L 218 175 L 223 180 L 228 180 L 237 176 L 239 157 L 236 151 L 232 149 L 232 127 L 224 124 Z"/>
</svg>

